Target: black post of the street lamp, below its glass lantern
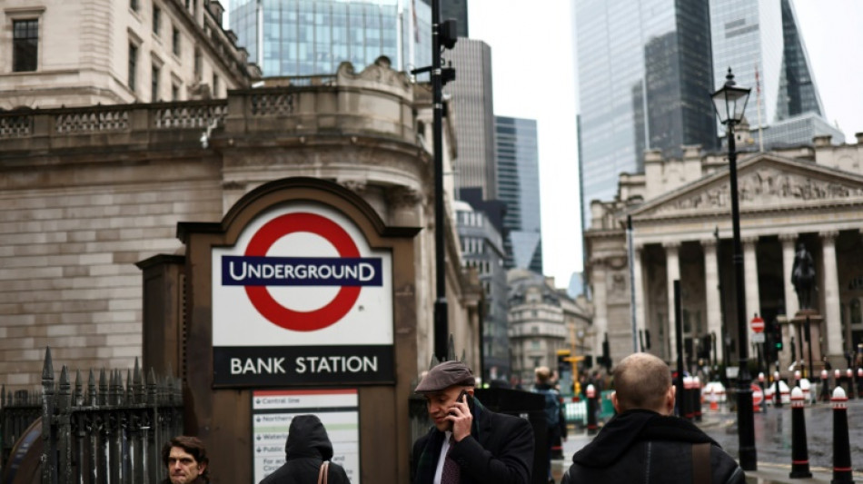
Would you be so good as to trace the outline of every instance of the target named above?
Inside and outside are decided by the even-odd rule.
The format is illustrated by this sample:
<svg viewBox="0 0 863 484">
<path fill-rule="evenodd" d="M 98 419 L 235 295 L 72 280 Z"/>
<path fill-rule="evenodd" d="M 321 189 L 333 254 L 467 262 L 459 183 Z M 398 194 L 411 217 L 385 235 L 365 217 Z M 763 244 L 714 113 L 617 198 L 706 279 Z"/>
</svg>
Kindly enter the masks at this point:
<svg viewBox="0 0 863 484">
<path fill-rule="evenodd" d="M 734 120 L 728 120 L 729 184 L 731 185 L 731 229 L 733 236 L 734 291 L 737 299 L 737 329 L 739 372 L 737 419 L 740 467 L 757 470 L 755 449 L 755 418 L 752 414 L 752 388 L 749 382 L 749 348 L 747 344 L 746 292 L 743 277 L 743 248 L 740 243 L 740 207 L 737 191 L 737 152 L 734 143 Z"/>
</svg>

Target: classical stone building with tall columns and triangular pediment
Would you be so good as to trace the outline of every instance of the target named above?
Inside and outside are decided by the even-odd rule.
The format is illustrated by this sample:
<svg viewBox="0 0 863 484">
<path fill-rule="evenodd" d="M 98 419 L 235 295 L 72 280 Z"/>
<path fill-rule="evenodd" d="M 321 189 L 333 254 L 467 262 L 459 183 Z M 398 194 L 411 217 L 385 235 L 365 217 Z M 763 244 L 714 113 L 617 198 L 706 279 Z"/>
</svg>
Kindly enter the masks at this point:
<svg viewBox="0 0 863 484">
<path fill-rule="evenodd" d="M 644 173 L 620 175 L 613 201 L 591 204 L 585 241 L 593 321 L 598 333 L 608 332 L 614 361 L 632 351 L 630 291 L 637 329 L 651 335 L 649 351 L 676 358 L 675 280 L 682 288 L 684 339 L 713 335 L 720 362 L 737 361 L 738 325 L 749 325 L 756 313 L 779 324 L 780 368 L 789 368 L 792 341 L 796 359 L 806 360 L 799 328 L 788 324 L 799 311 L 790 274 L 795 248 L 803 243 L 815 260 L 813 306 L 823 317 L 812 344 L 834 368 L 846 366 L 846 352 L 863 341 L 863 133 L 857 144 L 832 145 L 825 136 L 810 146 L 739 153 L 738 180 L 745 301 L 735 301 L 726 153 L 686 146 L 680 159 L 664 159 L 649 152 Z M 748 321 L 734 321 L 738 303 L 745 304 Z M 723 342 L 730 343 L 729 355 Z"/>
</svg>

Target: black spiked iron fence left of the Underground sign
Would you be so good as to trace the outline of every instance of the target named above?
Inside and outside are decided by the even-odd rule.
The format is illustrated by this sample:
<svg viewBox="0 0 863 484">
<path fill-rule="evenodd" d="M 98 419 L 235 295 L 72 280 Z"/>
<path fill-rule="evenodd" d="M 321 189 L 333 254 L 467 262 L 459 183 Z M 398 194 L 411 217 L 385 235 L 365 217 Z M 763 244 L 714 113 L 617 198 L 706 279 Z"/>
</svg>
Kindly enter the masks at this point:
<svg viewBox="0 0 863 484">
<path fill-rule="evenodd" d="M 33 398 L 4 405 L 4 446 L 7 421 L 14 422 L 9 424 L 14 432 L 29 425 L 25 416 L 41 418 L 43 484 L 150 484 L 163 479 L 162 446 L 183 432 L 180 381 L 156 379 L 150 370 L 144 382 L 137 360 L 125 380 L 120 370 L 98 374 L 96 380 L 90 370 L 84 384 L 75 371 L 73 385 L 64 365 L 55 382 L 51 351 L 45 351 L 41 411 L 33 412 Z"/>
</svg>

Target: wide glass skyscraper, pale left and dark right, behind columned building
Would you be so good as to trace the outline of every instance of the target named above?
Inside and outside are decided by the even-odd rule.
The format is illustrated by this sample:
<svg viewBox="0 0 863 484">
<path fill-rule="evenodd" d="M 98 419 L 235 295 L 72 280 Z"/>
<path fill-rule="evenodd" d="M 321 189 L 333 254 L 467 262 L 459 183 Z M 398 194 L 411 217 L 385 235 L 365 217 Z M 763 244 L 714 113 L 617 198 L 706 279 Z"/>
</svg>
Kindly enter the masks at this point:
<svg viewBox="0 0 863 484">
<path fill-rule="evenodd" d="M 646 149 L 717 145 L 708 0 L 577 0 L 581 210 L 609 200 Z"/>
</svg>

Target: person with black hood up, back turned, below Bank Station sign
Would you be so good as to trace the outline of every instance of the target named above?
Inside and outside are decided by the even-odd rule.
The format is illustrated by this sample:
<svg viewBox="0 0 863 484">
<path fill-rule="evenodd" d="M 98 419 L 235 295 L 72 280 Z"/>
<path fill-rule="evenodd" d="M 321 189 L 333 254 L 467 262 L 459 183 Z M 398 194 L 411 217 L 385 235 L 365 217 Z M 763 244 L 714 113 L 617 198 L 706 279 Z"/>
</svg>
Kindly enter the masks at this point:
<svg viewBox="0 0 863 484">
<path fill-rule="evenodd" d="M 291 420 L 284 453 L 284 465 L 260 484 L 315 484 L 318 481 L 323 462 L 332 459 L 332 443 L 316 415 L 298 415 Z M 327 484 L 350 482 L 342 466 L 330 462 Z"/>
</svg>

